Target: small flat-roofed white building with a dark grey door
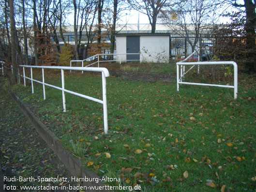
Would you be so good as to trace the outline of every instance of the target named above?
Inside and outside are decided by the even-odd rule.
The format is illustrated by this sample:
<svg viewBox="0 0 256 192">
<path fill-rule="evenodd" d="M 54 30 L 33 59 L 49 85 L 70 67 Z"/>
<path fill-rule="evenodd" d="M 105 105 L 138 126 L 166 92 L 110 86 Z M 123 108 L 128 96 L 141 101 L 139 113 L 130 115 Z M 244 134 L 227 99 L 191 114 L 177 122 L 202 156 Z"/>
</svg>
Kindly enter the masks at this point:
<svg viewBox="0 0 256 192">
<path fill-rule="evenodd" d="M 169 33 L 116 34 L 117 60 L 141 62 L 169 62 Z M 135 53 L 135 54 L 132 54 Z"/>
</svg>

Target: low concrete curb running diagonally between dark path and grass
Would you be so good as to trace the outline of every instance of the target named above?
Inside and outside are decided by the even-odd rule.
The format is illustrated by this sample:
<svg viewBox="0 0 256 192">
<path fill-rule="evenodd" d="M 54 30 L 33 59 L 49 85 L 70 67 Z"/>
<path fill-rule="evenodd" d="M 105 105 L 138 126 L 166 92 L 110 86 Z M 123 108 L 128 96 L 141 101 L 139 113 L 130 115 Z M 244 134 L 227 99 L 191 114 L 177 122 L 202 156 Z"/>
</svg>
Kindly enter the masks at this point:
<svg viewBox="0 0 256 192">
<path fill-rule="evenodd" d="M 48 145 L 49 148 L 51 148 L 54 153 L 59 157 L 60 161 L 63 162 L 65 167 L 70 171 L 72 175 L 74 175 L 76 178 L 98 178 L 99 182 L 82 182 L 83 186 L 87 187 L 86 192 L 106 192 L 107 190 L 104 189 L 104 186 L 100 182 L 100 177 L 97 176 L 95 173 L 85 169 L 83 167 L 82 162 L 76 158 L 74 155 L 69 153 L 59 142 L 59 138 L 52 133 L 49 129 L 46 128 L 46 126 L 40 121 L 36 116 L 33 114 L 33 112 L 30 110 L 29 107 L 26 106 L 25 103 L 23 103 L 16 95 L 14 92 L 10 91 L 11 96 L 15 100 L 15 102 L 18 104 L 20 107 L 21 111 L 25 114 L 25 116 L 28 118 L 30 123 L 35 127 L 36 131 L 38 134 L 45 140 L 46 144 Z M 89 190 L 89 187 L 95 186 L 96 189 L 97 187 L 101 190 Z"/>
</svg>

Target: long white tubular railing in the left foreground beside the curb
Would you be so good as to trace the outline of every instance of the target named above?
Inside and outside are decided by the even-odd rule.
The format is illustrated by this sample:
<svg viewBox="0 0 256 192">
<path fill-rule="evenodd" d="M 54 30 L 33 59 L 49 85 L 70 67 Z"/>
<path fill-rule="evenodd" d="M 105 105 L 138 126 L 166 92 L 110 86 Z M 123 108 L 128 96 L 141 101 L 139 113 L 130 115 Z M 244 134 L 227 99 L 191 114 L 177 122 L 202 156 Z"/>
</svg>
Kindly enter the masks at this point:
<svg viewBox="0 0 256 192">
<path fill-rule="evenodd" d="M 66 99 L 65 99 L 65 92 L 67 93 L 71 93 L 73 95 L 77 95 L 79 97 L 85 98 L 85 99 L 89 99 L 91 101 L 97 102 L 97 103 L 101 103 L 103 104 L 103 117 L 104 117 L 104 132 L 105 134 L 107 134 L 108 131 L 108 125 L 107 125 L 107 102 L 106 102 L 106 77 L 109 77 L 109 72 L 106 68 L 103 67 L 99 67 L 99 68 L 95 68 L 95 67 L 55 67 L 55 66 L 29 66 L 29 65 L 19 65 L 20 67 L 23 67 L 23 75 L 20 75 L 24 78 L 24 86 L 26 87 L 26 79 L 29 79 L 31 81 L 31 88 L 32 88 L 32 93 L 34 93 L 34 87 L 33 87 L 33 82 L 37 82 L 40 84 L 43 84 L 43 92 L 44 92 L 44 100 L 46 99 L 45 96 L 45 86 L 49 86 L 55 89 L 59 89 L 62 91 L 62 101 L 63 101 L 63 112 L 66 112 Z M 30 68 L 30 77 L 27 77 L 25 75 L 25 68 Z M 33 68 L 37 68 L 37 69 L 42 69 L 42 82 L 33 79 Z M 61 88 L 54 86 L 54 85 L 50 85 L 45 83 L 45 75 L 44 75 L 44 69 L 59 69 L 61 70 Z M 67 90 L 65 89 L 65 81 L 64 81 L 64 70 L 75 70 L 75 71 L 90 71 L 90 72 L 101 72 L 102 74 L 102 94 L 103 94 L 103 100 L 99 100 L 87 95 L 83 95 L 80 93 L 76 93 L 74 91 L 71 90 Z"/>
</svg>

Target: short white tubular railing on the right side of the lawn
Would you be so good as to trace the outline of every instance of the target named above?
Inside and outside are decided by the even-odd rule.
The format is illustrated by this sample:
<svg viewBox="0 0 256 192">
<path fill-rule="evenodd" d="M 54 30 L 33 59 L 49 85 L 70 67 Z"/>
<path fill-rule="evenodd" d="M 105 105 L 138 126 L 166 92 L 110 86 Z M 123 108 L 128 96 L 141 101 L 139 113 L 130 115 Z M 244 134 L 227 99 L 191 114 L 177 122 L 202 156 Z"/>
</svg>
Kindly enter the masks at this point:
<svg viewBox="0 0 256 192">
<path fill-rule="evenodd" d="M 237 99 L 238 94 L 238 69 L 237 63 L 234 61 L 216 61 L 216 62 L 177 62 L 177 91 L 180 90 L 180 84 L 187 84 L 187 85 L 201 85 L 201 86 L 211 86 L 211 87 L 220 87 L 220 88 L 233 88 L 234 89 L 234 99 Z M 181 76 L 180 72 L 180 65 L 181 65 Z M 193 65 L 187 72 L 185 71 L 185 65 Z M 204 84 L 204 83 L 189 83 L 189 82 L 182 82 L 182 78 L 185 74 L 187 74 L 195 65 L 233 65 L 234 66 L 234 86 L 228 85 L 215 85 L 215 84 Z"/>
</svg>

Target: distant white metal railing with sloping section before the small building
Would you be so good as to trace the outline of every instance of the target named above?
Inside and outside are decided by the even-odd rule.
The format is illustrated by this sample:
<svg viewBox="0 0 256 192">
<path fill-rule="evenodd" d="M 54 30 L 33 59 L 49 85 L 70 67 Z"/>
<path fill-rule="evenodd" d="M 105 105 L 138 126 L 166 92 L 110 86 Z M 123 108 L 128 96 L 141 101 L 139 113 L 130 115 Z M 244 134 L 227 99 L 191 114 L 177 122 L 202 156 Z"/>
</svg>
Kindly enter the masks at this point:
<svg viewBox="0 0 256 192">
<path fill-rule="evenodd" d="M 100 60 L 100 56 L 109 56 L 109 55 L 113 55 L 113 58 L 114 56 L 116 56 L 116 60 Z M 87 59 L 83 59 L 83 60 L 71 60 L 70 61 L 70 67 L 72 67 L 72 62 L 81 62 L 82 63 L 82 67 L 84 67 L 84 62 L 86 61 L 91 61 L 91 60 L 94 60 L 95 58 L 97 58 L 97 61 L 93 62 L 93 63 L 90 63 L 89 65 L 85 66 L 85 67 L 89 67 L 95 63 L 98 63 L 98 67 L 100 67 L 100 62 L 112 62 L 112 61 L 116 61 L 116 62 L 121 62 L 122 61 L 140 61 L 140 59 L 121 59 L 121 55 L 140 55 L 140 53 L 121 53 L 121 54 L 117 54 L 117 53 L 106 53 L 106 54 L 97 54 L 97 55 L 94 55 L 94 56 L 91 56 L 90 58 L 87 58 Z M 119 56 L 119 59 L 118 59 L 118 56 Z M 82 71 L 83 73 L 83 71 Z"/>
</svg>

